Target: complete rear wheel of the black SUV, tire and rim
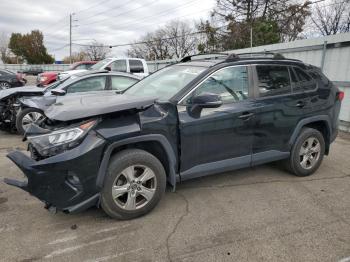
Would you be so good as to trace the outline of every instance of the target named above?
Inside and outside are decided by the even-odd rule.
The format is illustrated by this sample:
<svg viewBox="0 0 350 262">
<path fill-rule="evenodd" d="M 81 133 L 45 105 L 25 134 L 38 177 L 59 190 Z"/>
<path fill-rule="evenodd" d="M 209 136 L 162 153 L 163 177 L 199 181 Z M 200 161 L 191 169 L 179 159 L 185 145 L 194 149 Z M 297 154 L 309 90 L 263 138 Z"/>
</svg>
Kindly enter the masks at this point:
<svg viewBox="0 0 350 262">
<path fill-rule="evenodd" d="M 313 128 L 303 128 L 289 159 L 285 161 L 285 166 L 296 176 L 309 176 L 321 165 L 324 152 L 325 141 L 322 133 Z"/>
</svg>

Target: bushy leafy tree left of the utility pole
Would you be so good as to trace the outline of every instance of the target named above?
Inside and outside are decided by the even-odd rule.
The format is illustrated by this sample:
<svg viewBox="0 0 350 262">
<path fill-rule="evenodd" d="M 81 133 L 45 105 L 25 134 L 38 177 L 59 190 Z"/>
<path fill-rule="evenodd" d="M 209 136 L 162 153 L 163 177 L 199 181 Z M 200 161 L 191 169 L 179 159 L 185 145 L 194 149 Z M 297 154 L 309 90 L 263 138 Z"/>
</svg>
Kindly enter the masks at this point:
<svg viewBox="0 0 350 262">
<path fill-rule="evenodd" d="M 39 30 L 23 35 L 12 33 L 9 48 L 16 56 L 25 59 L 29 64 L 51 64 L 55 60 L 47 53 L 43 40 L 43 34 Z"/>
</svg>

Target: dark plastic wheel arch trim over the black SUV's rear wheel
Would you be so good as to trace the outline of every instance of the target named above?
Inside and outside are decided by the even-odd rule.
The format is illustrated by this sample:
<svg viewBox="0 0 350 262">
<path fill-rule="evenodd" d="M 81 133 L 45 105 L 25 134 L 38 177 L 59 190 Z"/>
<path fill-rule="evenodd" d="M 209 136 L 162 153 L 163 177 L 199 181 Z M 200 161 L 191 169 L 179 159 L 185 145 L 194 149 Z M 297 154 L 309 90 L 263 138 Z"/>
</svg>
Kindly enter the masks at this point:
<svg viewBox="0 0 350 262">
<path fill-rule="evenodd" d="M 325 154 L 328 155 L 329 147 L 331 143 L 330 140 L 332 137 L 331 121 L 329 116 L 320 115 L 320 116 L 313 116 L 313 117 L 308 117 L 300 120 L 289 140 L 290 148 L 292 148 L 298 135 L 300 134 L 302 128 L 304 127 L 314 128 L 322 133 L 325 140 L 325 146 L 326 146 Z"/>
</svg>

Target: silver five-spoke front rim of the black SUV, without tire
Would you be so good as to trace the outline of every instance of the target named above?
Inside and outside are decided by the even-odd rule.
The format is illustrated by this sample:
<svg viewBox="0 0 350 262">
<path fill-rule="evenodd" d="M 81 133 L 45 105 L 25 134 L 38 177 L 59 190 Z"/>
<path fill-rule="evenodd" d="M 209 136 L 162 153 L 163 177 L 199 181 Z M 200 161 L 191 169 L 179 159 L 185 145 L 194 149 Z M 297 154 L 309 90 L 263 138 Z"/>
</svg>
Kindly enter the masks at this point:
<svg viewBox="0 0 350 262">
<path fill-rule="evenodd" d="M 157 187 L 157 178 L 152 169 L 132 165 L 119 173 L 112 185 L 112 198 L 122 209 L 137 210 L 149 203 Z"/>
</svg>

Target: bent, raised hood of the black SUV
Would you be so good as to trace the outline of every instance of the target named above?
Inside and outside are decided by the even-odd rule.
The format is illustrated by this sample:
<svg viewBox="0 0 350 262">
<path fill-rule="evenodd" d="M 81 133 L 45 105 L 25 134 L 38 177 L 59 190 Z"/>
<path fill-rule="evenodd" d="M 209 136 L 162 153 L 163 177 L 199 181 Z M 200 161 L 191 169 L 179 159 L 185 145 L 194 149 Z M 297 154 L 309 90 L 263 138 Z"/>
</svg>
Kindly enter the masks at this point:
<svg viewBox="0 0 350 262">
<path fill-rule="evenodd" d="M 83 95 L 66 98 L 46 109 L 45 115 L 58 121 L 69 121 L 98 116 L 129 109 L 142 109 L 154 104 L 156 98 L 142 98 L 130 95 Z"/>
</svg>

